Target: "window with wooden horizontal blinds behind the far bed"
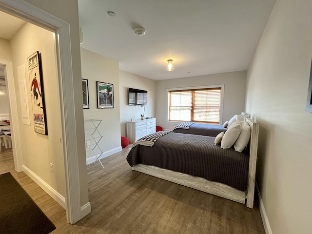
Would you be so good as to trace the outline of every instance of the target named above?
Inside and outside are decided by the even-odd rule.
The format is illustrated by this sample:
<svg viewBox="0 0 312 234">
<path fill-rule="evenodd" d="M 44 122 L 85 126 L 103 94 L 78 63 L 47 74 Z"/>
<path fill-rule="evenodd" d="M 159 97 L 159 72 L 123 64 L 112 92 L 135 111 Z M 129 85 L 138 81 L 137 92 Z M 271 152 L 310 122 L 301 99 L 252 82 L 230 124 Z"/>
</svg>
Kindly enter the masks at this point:
<svg viewBox="0 0 312 234">
<path fill-rule="evenodd" d="M 220 124 L 222 87 L 168 91 L 168 120 Z"/>
</svg>

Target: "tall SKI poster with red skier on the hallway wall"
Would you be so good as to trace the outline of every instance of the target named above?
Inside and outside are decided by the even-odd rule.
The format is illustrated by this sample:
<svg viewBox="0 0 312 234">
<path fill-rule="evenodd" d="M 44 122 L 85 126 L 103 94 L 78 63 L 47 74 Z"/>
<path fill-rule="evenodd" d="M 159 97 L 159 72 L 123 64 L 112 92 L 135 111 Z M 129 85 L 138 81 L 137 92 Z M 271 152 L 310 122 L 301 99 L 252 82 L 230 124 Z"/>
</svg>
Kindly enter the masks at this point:
<svg viewBox="0 0 312 234">
<path fill-rule="evenodd" d="M 36 133 L 48 135 L 42 82 L 41 55 L 39 54 L 39 51 L 29 56 L 27 61 L 34 129 Z"/>
</svg>

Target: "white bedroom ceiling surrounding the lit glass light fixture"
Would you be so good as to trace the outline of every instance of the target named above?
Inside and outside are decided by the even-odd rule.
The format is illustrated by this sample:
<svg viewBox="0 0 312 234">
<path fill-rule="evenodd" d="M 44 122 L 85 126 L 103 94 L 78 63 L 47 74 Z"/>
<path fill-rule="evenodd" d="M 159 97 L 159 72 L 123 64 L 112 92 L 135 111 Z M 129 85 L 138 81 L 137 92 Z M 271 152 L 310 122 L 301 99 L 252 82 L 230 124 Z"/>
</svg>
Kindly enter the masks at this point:
<svg viewBox="0 0 312 234">
<path fill-rule="evenodd" d="M 154 80 L 247 70 L 274 3 L 78 0 L 81 47 L 118 60 L 120 70 Z M 136 27 L 146 34 L 137 36 Z M 174 59 L 174 71 L 165 71 L 167 59 Z"/>
</svg>

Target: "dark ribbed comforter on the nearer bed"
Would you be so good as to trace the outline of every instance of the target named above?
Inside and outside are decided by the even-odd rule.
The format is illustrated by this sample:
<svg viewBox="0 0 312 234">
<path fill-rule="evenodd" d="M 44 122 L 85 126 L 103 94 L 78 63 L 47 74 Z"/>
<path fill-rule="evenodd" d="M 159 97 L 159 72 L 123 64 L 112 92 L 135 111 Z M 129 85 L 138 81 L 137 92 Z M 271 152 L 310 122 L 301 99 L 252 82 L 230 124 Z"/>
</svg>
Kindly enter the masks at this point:
<svg viewBox="0 0 312 234">
<path fill-rule="evenodd" d="M 214 144 L 215 137 L 169 133 L 154 146 L 137 145 L 127 156 L 130 166 L 142 163 L 220 182 L 246 191 L 249 156 Z"/>
</svg>

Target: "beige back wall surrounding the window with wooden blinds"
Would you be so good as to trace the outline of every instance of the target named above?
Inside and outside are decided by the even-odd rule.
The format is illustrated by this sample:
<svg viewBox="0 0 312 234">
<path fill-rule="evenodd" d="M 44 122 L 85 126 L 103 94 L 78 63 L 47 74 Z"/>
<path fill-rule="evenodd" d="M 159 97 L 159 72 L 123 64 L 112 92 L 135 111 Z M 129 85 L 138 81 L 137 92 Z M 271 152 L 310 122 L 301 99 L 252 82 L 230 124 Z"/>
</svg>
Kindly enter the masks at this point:
<svg viewBox="0 0 312 234">
<path fill-rule="evenodd" d="M 160 80 L 156 82 L 156 125 L 172 130 L 176 124 L 167 123 L 166 89 L 224 84 L 223 121 L 245 111 L 246 71 Z"/>
</svg>

